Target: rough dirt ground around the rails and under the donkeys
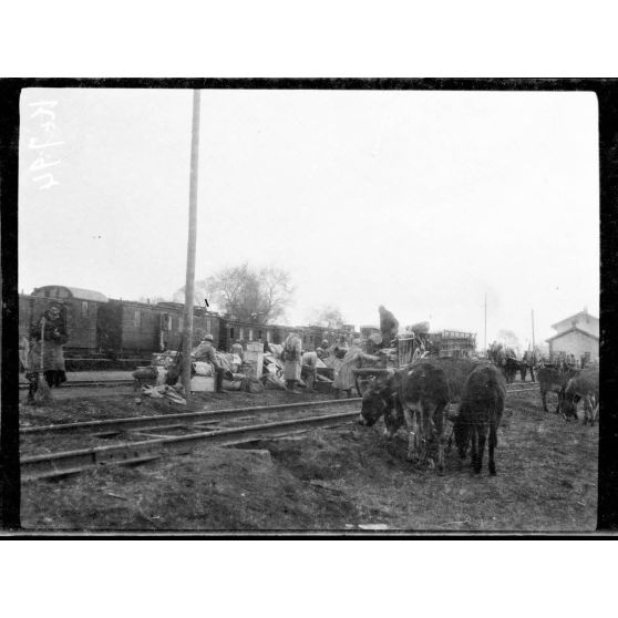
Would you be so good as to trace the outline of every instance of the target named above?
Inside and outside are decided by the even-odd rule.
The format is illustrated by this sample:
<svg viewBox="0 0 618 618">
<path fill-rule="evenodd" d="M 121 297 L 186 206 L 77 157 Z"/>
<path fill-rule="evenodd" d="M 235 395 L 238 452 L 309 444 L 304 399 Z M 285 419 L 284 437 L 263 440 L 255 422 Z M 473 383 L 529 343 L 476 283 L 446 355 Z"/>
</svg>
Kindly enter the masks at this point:
<svg viewBox="0 0 618 618">
<path fill-rule="evenodd" d="M 205 395 L 209 409 L 323 394 Z M 261 398 L 261 399 L 260 399 Z M 553 402 L 552 402 L 553 403 Z M 54 402 L 45 423 L 186 410 L 132 396 Z M 56 409 L 58 406 L 58 409 Z M 152 406 L 152 409 L 151 409 Z M 173 409 L 172 409 L 173 406 Z M 552 406 L 550 406 L 552 408 Z M 153 412 L 155 410 L 156 412 Z M 43 421 L 39 409 L 24 421 Z M 47 415 L 47 414 L 45 414 Z M 54 449 L 55 450 L 55 449 Z M 471 473 L 453 447 L 446 473 L 405 461 L 392 442 L 348 423 L 243 447 L 202 447 L 137 467 L 25 483 L 22 524 L 39 531 L 594 531 L 598 426 L 544 413 L 538 391 L 507 396 L 497 476 Z"/>
</svg>

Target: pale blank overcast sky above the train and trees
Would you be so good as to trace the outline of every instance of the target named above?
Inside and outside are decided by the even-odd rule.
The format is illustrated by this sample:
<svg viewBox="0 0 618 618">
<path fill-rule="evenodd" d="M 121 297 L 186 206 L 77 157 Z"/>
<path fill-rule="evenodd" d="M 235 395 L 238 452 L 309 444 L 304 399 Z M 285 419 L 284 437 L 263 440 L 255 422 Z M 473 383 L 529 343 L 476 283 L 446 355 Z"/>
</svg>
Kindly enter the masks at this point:
<svg viewBox="0 0 618 618">
<path fill-rule="evenodd" d="M 190 91 L 24 91 L 20 290 L 184 285 L 190 114 Z M 197 278 L 276 265 L 290 323 L 384 305 L 480 347 L 486 293 L 487 341 L 527 346 L 534 308 L 538 342 L 598 316 L 597 123 L 591 93 L 203 91 Z"/>
</svg>

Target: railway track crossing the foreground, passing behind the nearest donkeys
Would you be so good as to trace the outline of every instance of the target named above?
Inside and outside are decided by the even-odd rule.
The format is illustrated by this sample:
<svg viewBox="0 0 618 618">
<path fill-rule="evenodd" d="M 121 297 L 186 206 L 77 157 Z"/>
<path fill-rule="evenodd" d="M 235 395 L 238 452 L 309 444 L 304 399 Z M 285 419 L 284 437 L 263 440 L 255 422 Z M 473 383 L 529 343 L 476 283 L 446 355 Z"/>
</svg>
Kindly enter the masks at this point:
<svg viewBox="0 0 618 618">
<path fill-rule="evenodd" d="M 507 392 L 525 392 L 536 388 L 535 382 L 528 382 L 525 388 L 521 384 L 508 384 Z M 325 400 L 317 402 L 288 403 L 282 405 L 261 405 L 253 408 L 237 408 L 209 412 L 185 412 L 156 416 L 138 416 L 124 419 L 106 419 L 102 421 L 84 421 L 79 423 L 63 423 L 55 425 L 39 425 L 22 428 L 22 436 L 52 433 L 87 431 L 96 437 L 110 437 L 126 433 L 133 437 L 146 436 L 146 440 L 126 442 L 109 446 L 78 449 L 31 455 L 21 459 L 22 480 L 34 481 L 78 474 L 86 470 L 94 470 L 109 465 L 130 465 L 150 462 L 173 454 L 185 454 L 192 449 L 209 445 L 234 445 L 254 442 L 265 437 L 280 437 L 293 433 L 306 432 L 317 428 L 331 428 L 349 422 L 358 416 L 360 398 L 342 400 Z M 319 414 L 309 418 L 264 422 L 239 428 L 217 428 L 214 423 L 244 419 L 249 415 L 267 415 L 287 411 L 307 409 L 328 409 L 353 405 L 353 410 Z M 207 429 L 207 431 L 204 431 Z M 184 435 L 148 435 L 151 431 L 189 430 Z"/>
</svg>

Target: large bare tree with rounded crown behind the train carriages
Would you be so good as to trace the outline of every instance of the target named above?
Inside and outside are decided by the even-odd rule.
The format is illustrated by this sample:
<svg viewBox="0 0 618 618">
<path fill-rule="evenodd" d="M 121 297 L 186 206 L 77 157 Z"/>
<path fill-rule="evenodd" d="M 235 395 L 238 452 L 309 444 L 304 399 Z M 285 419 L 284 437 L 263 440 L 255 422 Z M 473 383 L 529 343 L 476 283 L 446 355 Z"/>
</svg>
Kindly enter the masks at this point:
<svg viewBox="0 0 618 618">
<path fill-rule="evenodd" d="M 195 301 L 208 305 L 237 320 L 269 323 L 281 318 L 291 305 L 293 286 L 280 268 L 251 269 L 247 262 L 224 268 L 195 282 Z M 176 295 L 181 295 L 181 289 Z"/>
</svg>

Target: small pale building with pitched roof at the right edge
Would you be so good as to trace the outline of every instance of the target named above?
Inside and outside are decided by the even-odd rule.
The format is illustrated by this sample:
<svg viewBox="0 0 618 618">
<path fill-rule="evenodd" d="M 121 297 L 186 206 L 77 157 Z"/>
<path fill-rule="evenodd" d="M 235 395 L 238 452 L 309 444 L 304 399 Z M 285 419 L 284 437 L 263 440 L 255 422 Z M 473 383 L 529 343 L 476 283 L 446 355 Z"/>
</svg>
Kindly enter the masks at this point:
<svg viewBox="0 0 618 618">
<path fill-rule="evenodd" d="M 552 325 L 557 331 L 547 339 L 549 356 L 573 354 L 576 360 L 586 357 L 587 362 L 599 358 L 599 319 L 590 316 L 587 309 Z"/>
</svg>

